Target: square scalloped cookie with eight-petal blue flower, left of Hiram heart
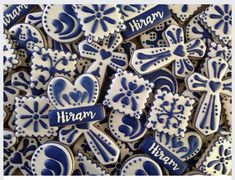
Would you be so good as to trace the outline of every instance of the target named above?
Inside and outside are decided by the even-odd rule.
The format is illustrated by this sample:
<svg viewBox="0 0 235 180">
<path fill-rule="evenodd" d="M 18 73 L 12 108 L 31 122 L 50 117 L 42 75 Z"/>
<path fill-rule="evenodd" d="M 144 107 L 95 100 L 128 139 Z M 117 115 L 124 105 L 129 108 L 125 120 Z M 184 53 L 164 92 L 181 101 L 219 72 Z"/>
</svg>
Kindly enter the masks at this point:
<svg viewBox="0 0 235 180">
<path fill-rule="evenodd" d="M 49 111 L 53 108 L 45 96 L 15 98 L 16 136 L 50 137 L 57 135 L 57 127 L 49 125 Z"/>
</svg>

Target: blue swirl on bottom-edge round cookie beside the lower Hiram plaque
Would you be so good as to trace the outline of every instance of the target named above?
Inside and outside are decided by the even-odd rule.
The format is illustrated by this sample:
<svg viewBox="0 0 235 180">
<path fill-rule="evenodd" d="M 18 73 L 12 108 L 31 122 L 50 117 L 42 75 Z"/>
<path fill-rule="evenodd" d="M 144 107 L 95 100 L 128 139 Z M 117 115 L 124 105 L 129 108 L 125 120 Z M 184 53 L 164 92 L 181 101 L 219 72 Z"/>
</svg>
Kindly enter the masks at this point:
<svg viewBox="0 0 235 180">
<path fill-rule="evenodd" d="M 159 168 L 151 161 L 145 161 L 143 163 L 143 169 L 138 169 L 135 172 L 137 176 L 156 176 L 160 174 Z"/>
</svg>

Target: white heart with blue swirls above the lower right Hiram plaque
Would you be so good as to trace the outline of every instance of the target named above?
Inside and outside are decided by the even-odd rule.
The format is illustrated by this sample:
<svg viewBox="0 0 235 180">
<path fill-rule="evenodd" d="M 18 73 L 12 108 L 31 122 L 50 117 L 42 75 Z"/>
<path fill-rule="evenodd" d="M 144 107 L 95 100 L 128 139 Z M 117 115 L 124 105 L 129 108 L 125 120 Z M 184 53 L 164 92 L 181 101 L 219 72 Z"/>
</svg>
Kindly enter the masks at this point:
<svg viewBox="0 0 235 180">
<path fill-rule="evenodd" d="M 201 137 L 196 132 L 186 132 L 184 137 L 179 137 L 156 131 L 155 140 L 182 161 L 194 157 L 202 147 Z"/>
</svg>

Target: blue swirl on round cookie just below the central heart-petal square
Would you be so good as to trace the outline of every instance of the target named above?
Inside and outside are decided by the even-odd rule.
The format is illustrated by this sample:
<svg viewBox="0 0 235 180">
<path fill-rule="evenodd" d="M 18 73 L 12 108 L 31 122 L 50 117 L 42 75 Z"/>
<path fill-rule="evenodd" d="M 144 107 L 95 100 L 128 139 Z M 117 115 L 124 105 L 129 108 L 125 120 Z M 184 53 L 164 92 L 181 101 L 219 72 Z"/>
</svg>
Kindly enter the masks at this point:
<svg viewBox="0 0 235 180">
<path fill-rule="evenodd" d="M 141 119 L 135 119 L 130 116 L 124 116 L 122 118 L 122 125 L 118 127 L 118 130 L 129 139 L 135 139 L 145 131 L 145 116 L 142 115 Z"/>
</svg>

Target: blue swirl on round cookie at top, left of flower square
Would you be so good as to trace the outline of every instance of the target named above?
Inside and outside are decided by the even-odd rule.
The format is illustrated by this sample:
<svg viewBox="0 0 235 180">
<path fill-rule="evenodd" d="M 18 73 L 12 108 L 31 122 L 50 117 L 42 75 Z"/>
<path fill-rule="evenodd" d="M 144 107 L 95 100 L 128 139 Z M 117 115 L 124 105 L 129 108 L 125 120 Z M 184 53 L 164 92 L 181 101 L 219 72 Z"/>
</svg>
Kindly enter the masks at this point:
<svg viewBox="0 0 235 180">
<path fill-rule="evenodd" d="M 60 36 L 60 39 L 69 39 L 78 36 L 82 29 L 77 19 L 72 5 L 63 5 L 64 12 L 58 15 L 58 19 L 52 21 L 55 27 L 54 33 Z"/>
</svg>

